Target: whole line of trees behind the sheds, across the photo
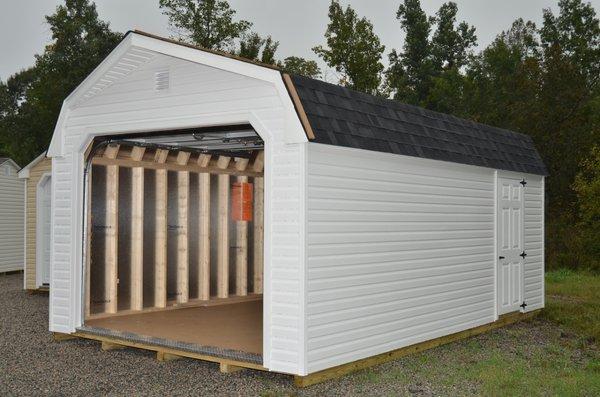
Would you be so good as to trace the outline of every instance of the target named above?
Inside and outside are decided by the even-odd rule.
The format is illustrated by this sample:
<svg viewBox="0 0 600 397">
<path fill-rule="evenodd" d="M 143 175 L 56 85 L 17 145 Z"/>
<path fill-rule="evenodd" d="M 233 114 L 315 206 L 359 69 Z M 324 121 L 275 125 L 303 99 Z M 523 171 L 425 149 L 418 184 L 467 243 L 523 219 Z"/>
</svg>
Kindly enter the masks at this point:
<svg viewBox="0 0 600 397">
<path fill-rule="evenodd" d="M 225 0 L 160 0 L 159 7 L 181 41 L 324 78 L 314 60 L 280 59 L 279 42 L 255 32 Z M 600 270 L 600 24 L 593 6 L 559 0 L 558 12 L 541 10 L 540 26 L 517 19 L 480 50 L 456 3 L 427 15 L 420 0 L 402 0 L 393 11 L 405 38 L 386 53 L 371 21 L 331 1 L 314 54 L 338 84 L 530 135 L 550 173 L 547 267 Z M 65 0 L 46 22 L 52 40 L 34 65 L 0 81 L 0 152 L 21 165 L 47 148 L 64 98 L 122 37 L 91 0 Z"/>
</svg>

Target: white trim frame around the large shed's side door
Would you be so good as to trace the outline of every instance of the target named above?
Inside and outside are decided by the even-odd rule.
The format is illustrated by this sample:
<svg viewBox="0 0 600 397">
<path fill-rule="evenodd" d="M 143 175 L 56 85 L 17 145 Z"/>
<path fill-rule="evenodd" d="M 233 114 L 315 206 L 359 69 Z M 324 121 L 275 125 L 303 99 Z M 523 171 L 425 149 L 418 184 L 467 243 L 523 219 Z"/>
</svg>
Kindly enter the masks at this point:
<svg viewBox="0 0 600 397">
<path fill-rule="evenodd" d="M 499 189 L 500 186 L 500 181 L 502 179 L 512 179 L 514 181 L 521 181 L 521 180 L 527 180 L 526 175 L 524 174 L 519 174 L 519 173 L 515 173 L 515 172 L 510 172 L 510 171 L 496 171 L 496 177 L 495 177 L 495 184 L 494 184 L 494 192 L 495 192 L 495 209 L 494 209 L 494 219 L 495 219 L 495 228 L 494 228 L 494 235 L 496 236 L 496 244 L 494 246 L 494 253 L 495 253 L 495 257 L 494 257 L 494 275 L 496 278 L 496 282 L 494 283 L 494 289 L 495 289 L 495 312 L 496 312 L 496 319 L 498 319 L 498 317 L 502 314 L 506 314 L 506 313 L 500 313 L 500 293 L 501 293 L 501 289 L 500 289 L 500 280 L 501 280 L 501 274 L 500 274 L 500 216 L 498 216 L 498 211 L 500 209 L 500 195 L 501 195 L 501 191 Z M 524 251 L 525 250 L 525 186 L 523 186 L 521 188 L 521 219 L 520 219 L 520 230 L 521 230 L 521 249 Z M 520 288 L 521 288 L 521 300 L 525 299 L 525 258 L 521 259 L 521 280 L 520 280 Z M 515 311 L 511 311 L 511 312 L 516 312 Z M 520 307 L 518 309 L 519 312 L 524 312 L 524 308 Z M 510 312 L 507 312 L 510 313 Z"/>
</svg>

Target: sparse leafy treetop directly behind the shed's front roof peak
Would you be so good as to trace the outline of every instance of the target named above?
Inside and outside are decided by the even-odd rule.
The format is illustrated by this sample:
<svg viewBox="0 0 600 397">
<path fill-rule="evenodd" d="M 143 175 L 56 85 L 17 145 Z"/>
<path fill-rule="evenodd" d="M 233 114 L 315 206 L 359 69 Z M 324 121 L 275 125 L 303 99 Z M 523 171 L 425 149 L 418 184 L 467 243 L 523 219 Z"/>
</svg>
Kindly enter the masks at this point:
<svg viewBox="0 0 600 397">
<path fill-rule="evenodd" d="M 235 21 L 225 0 L 160 0 L 159 7 L 180 39 L 211 50 L 232 51 L 234 41 L 252 27 Z"/>
</svg>

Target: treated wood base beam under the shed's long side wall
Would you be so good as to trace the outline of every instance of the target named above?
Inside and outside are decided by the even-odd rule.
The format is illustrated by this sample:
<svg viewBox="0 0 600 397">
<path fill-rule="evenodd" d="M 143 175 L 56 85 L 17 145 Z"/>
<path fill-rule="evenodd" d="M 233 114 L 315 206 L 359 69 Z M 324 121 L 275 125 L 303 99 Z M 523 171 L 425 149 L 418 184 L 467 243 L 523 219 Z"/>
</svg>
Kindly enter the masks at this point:
<svg viewBox="0 0 600 397">
<path fill-rule="evenodd" d="M 529 313 L 510 313 L 504 316 L 500 316 L 498 321 L 485 324 L 476 328 L 471 328 L 455 334 L 445 335 L 439 338 L 431 339 L 425 342 L 417 343 L 411 346 L 406 346 L 401 349 L 393 350 L 387 353 L 378 354 L 376 356 L 368 357 L 362 360 L 354 361 L 348 364 L 340 365 L 337 367 L 329 368 L 323 371 L 315 372 L 307 376 L 294 376 L 294 383 L 298 387 L 307 387 L 317 383 L 325 382 L 330 379 L 336 379 L 352 372 L 359 371 L 361 369 L 373 367 L 375 365 L 394 361 L 399 358 L 408 356 L 410 354 L 419 353 L 424 350 L 433 349 L 441 345 L 452 343 L 461 339 L 465 339 L 471 336 L 479 335 L 484 332 L 494 330 L 496 328 L 504 327 L 508 324 L 512 324 L 517 321 L 526 320 L 537 316 L 541 310 L 529 312 Z"/>
</svg>

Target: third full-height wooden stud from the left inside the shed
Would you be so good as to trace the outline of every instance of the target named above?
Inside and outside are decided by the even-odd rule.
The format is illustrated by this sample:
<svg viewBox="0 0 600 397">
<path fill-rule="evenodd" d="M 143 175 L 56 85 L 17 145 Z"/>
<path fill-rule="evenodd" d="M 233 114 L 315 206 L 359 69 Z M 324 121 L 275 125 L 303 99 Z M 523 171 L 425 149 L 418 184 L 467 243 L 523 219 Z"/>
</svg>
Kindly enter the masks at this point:
<svg viewBox="0 0 600 397">
<path fill-rule="evenodd" d="M 156 170 L 154 306 L 167 306 L 167 170 Z"/>
</svg>

